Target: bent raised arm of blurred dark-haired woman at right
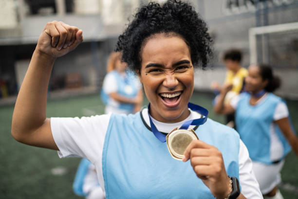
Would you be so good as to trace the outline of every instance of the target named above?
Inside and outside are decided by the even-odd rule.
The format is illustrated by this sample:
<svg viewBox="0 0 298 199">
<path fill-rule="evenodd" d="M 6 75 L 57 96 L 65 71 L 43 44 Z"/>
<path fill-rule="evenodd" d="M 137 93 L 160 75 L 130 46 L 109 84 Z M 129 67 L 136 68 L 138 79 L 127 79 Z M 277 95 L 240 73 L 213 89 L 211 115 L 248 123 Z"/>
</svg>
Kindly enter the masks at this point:
<svg viewBox="0 0 298 199">
<path fill-rule="evenodd" d="M 235 109 L 230 104 L 224 104 L 226 93 L 233 88 L 233 84 L 225 84 L 221 89 L 217 102 L 213 107 L 213 111 L 218 114 L 229 114 L 235 112 Z"/>
</svg>

